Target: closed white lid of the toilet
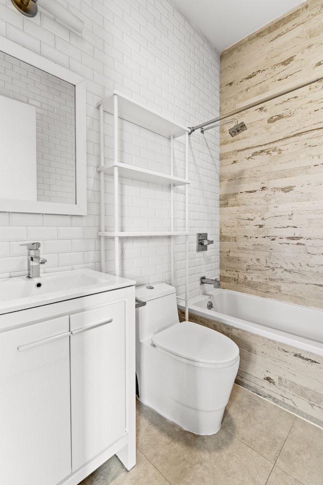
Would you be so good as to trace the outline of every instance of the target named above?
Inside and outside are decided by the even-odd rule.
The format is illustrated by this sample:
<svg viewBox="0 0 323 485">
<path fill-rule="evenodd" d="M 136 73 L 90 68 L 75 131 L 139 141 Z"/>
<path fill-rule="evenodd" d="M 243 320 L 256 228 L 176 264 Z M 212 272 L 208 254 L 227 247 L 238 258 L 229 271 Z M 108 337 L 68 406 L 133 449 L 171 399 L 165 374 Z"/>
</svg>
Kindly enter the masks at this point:
<svg viewBox="0 0 323 485">
<path fill-rule="evenodd" d="M 229 366 L 239 358 L 239 347 L 229 337 L 194 322 L 176 323 L 152 335 L 151 342 L 195 362 Z"/>
</svg>

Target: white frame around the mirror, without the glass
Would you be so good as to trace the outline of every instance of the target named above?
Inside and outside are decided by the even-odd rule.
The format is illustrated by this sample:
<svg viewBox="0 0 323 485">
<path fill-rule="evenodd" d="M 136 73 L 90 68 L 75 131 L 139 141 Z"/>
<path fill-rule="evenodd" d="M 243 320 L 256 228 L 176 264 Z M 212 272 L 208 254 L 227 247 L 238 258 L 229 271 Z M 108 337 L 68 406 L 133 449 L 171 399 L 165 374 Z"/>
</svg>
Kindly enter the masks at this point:
<svg viewBox="0 0 323 485">
<path fill-rule="evenodd" d="M 69 69 L 0 36 L 0 51 L 75 86 L 76 204 L 1 199 L 2 212 L 86 215 L 86 81 Z M 1 176 L 1 172 L 0 172 Z M 1 194 L 0 194 L 1 197 Z"/>
</svg>

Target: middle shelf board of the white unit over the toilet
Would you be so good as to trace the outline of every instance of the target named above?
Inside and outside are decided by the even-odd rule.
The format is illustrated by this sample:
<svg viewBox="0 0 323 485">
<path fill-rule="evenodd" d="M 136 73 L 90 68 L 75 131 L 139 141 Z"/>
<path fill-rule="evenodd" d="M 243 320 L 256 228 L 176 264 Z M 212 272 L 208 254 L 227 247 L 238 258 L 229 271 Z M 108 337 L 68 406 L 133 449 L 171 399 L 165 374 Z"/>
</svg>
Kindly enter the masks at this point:
<svg viewBox="0 0 323 485">
<path fill-rule="evenodd" d="M 161 185 L 170 185 L 173 183 L 174 185 L 186 185 L 189 180 L 180 177 L 174 177 L 172 175 L 167 175 L 160 172 L 155 172 L 153 170 L 148 170 L 145 168 L 134 167 L 133 165 L 129 165 L 127 163 L 117 162 L 117 163 L 110 163 L 104 165 L 103 167 L 99 167 L 97 169 L 98 172 L 109 173 L 110 175 L 114 174 L 114 167 L 118 167 L 118 173 L 121 177 L 132 178 L 135 180 L 142 180 L 144 182 L 152 182 L 152 183 L 159 183 Z"/>
</svg>

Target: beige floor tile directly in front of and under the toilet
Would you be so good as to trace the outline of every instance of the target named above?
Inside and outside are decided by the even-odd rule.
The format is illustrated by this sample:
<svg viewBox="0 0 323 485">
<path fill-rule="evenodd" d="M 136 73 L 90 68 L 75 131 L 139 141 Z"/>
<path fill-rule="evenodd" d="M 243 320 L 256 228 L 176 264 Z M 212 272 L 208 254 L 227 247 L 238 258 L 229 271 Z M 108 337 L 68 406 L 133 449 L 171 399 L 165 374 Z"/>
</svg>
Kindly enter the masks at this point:
<svg viewBox="0 0 323 485">
<path fill-rule="evenodd" d="M 138 403 L 137 446 L 172 485 L 264 485 L 273 464 L 224 429 L 183 430 Z"/>
</svg>

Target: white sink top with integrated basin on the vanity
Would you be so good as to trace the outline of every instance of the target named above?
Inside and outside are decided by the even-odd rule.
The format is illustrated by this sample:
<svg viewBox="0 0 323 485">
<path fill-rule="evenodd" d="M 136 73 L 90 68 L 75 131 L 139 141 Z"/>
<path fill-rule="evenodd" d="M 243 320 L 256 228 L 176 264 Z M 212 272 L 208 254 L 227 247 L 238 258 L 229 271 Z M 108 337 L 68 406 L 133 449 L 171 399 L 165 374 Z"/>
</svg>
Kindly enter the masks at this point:
<svg viewBox="0 0 323 485">
<path fill-rule="evenodd" d="M 0 279 L 0 314 L 93 295 L 135 284 L 135 281 L 91 269 L 44 273 L 39 278 Z"/>
</svg>

